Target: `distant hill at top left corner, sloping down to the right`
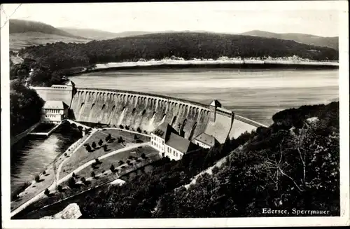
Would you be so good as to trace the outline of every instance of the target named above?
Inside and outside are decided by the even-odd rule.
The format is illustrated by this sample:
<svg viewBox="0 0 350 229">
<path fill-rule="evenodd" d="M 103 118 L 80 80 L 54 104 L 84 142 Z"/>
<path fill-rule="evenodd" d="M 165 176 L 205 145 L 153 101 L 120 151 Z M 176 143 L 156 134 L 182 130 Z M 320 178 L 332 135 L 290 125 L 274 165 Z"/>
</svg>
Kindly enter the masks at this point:
<svg viewBox="0 0 350 229">
<path fill-rule="evenodd" d="M 19 19 L 10 19 L 9 33 L 18 34 L 26 32 L 41 32 L 43 34 L 55 34 L 59 36 L 67 36 L 78 39 L 84 39 L 81 36 L 75 36 L 68 32 L 63 31 L 62 29 L 57 29 L 52 25 L 47 25 L 43 22 L 34 22 L 29 20 L 19 20 Z"/>
</svg>

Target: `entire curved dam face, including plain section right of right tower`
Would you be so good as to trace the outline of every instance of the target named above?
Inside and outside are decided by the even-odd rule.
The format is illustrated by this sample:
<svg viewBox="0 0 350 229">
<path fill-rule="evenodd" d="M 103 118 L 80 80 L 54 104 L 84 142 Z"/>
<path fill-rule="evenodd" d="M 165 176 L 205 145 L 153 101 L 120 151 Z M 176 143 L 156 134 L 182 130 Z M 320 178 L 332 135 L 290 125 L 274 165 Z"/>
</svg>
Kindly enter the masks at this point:
<svg viewBox="0 0 350 229">
<path fill-rule="evenodd" d="M 162 122 L 194 139 L 205 132 L 223 143 L 260 123 L 234 118 L 232 111 L 183 99 L 123 90 L 77 88 L 71 110 L 78 122 L 129 126 L 151 132 Z M 236 128 L 237 127 L 237 128 Z M 182 131 L 180 131 L 182 130 Z"/>
</svg>

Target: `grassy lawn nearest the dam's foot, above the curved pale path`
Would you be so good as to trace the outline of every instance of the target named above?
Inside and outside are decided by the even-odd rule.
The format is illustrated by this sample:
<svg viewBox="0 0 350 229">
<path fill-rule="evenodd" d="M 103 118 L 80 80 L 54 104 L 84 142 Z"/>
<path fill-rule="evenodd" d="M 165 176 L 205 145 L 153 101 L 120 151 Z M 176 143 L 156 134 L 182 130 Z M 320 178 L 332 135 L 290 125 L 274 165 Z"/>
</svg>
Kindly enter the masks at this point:
<svg viewBox="0 0 350 229">
<path fill-rule="evenodd" d="M 116 140 L 114 140 L 111 143 L 106 143 L 106 137 L 108 136 L 108 134 L 111 134 L 111 137 L 113 137 Z M 110 153 L 112 151 L 116 151 L 120 148 L 123 148 L 123 144 L 127 145 L 134 142 L 135 135 L 137 135 L 137 138 L 142 141 L 145 141 L 145 139 L 149 141 L 149 137 L 144 137 L 140 134 L 134 134 L 130 132 L 123 132 L 121 130 L 103 130 L 99 132 L 94 132 L 86 143 L 90 144 L 91 146 L 92 142 L 95 142 L 97 144 L 97 148 L 94 149 L 94 151 L 92 152 L 87 152 L 84 146 L 80 146 L 80 148 L 78 148 L 78 151 L 76 151 L 76 153 L 73 153 L 70 156 L 69 160 L 64 162 L 62 170 L 59 174 L 59 179 L 62 179 L 62 177 L 71 173 L 74 169 L 78 168 L 80 165 L 83 165 L 85 162 L 94 160 L 95 158 L 99 158 L 100 156 L 106 153 Z M 118 143 L 117 139 L 119 137 L 122 137 L 125 141 L 123 144 Z M 102 141 L 104 141 L 104 144 L 107 144 L 108 146 L 108 150 L 106 152 L 104 151 L 104 148 L 101 148 L 98 144 L 100 139 L 102 139 Z"/>
</svg>

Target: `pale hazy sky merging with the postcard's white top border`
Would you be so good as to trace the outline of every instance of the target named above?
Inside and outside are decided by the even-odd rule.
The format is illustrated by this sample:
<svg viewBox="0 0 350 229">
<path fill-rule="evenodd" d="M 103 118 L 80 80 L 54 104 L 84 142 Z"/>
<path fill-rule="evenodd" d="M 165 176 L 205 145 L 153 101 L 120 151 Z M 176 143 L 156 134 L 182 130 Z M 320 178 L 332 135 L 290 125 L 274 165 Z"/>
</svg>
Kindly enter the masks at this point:
<svg viewBox="0 0 350 229">
<path fill-rule="evenodd" d="M 2 7 L 11 15 L 18 4 Z M 338 9 L 337 1 L 22 4 L 11 18 L 109 32 L 258 29 L 339 36 Z"/>
</svg>

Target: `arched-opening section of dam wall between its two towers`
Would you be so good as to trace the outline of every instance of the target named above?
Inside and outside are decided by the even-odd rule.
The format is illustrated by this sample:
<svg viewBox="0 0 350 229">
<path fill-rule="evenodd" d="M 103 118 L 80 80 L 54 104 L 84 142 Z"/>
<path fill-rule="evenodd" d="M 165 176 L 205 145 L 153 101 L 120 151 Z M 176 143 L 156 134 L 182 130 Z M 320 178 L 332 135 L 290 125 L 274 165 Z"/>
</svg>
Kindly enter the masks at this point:
<svg viewBox="0 0 350 229">
<path fill-rule="evenodd" d="M 204 132 L 209 106 L 161 95 L 122 90 L 77 88 L 71 110 L 78 122 L 129 126 L 151 132 L 167 122 L 184 137 L 192 139 Z"/>
</svg>

